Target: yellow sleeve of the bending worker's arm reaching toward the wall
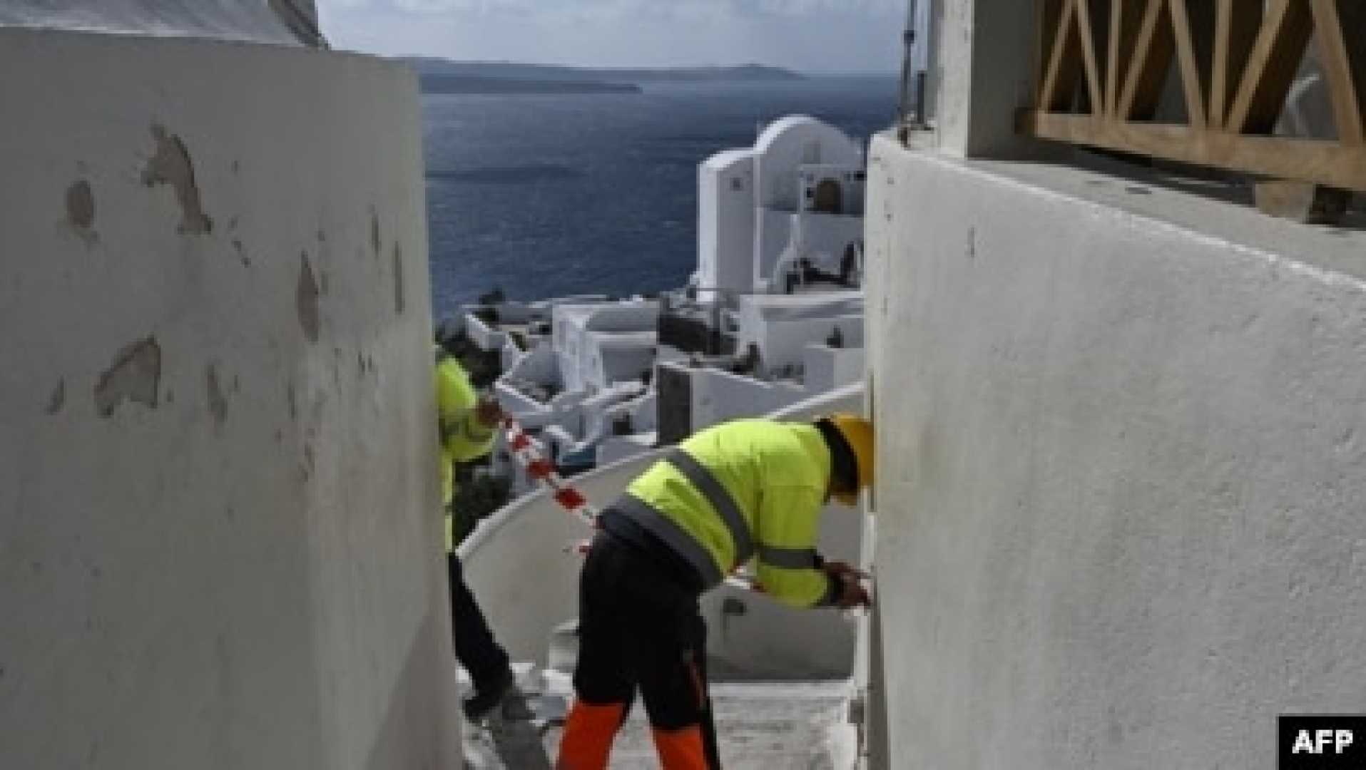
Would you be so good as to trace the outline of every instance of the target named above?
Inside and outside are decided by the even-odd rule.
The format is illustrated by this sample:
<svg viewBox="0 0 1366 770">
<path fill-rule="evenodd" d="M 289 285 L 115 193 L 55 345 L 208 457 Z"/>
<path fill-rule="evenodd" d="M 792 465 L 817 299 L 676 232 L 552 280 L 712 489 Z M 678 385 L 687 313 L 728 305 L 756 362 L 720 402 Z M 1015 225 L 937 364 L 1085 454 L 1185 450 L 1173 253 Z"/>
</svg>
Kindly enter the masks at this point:
<svg viewBox="0 0 1366 770">
<path fill-rule="evenodd" d="M 816 552 L 824 500 L 805 486 L 766 487 L 754 532 L 757 578 L 764 593 L 784 605 L 833 605 L 841 583 Z"/>
</svg>

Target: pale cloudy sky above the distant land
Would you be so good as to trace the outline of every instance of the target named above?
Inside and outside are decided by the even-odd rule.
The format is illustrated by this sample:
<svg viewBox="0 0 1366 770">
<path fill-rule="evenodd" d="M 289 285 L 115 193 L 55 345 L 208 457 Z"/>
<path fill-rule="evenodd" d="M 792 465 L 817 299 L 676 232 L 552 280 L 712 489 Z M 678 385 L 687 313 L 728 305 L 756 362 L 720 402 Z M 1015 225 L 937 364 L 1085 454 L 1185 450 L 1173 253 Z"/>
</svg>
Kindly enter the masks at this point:
<svg viewBox="0 0 1366 770">
<path fill-rule="evenodd" d="M 897 72 L 906 0 L 317 0 L 335 48 L 585 66 Z"/>
</svg>

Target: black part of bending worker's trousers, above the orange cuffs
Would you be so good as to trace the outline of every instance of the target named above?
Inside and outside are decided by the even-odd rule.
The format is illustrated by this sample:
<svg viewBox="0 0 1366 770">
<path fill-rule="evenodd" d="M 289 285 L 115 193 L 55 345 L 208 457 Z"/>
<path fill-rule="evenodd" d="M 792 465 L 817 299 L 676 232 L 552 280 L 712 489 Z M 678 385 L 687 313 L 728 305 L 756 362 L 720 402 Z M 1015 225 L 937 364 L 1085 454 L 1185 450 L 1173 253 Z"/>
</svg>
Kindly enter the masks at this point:
<svg viewBox="0 0 1366 770">
<path fill-rule="evenodd" d="M 598 532 L 579 579 L 574 689 L 587 703 L 624 703 L 624 719 L 639 687 L 650 726 L 699 726 L 706 759 L 719 769 L 697 598 L 657 558 Z"/>
</svg>

